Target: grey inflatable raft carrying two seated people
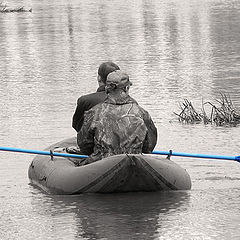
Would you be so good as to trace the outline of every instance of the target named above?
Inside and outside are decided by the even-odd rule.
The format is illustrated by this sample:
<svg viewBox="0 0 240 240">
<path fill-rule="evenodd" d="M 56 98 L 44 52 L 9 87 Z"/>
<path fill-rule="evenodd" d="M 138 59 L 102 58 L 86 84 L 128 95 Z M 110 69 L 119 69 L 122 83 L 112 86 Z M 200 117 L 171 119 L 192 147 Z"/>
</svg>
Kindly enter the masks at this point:
<svg viewBox="0 0 240 240">
<path fill-rule="evenodd" d="M 56 147 L 76 146 L 76 138 Z M 30 182 L 50 194 L 113 193 L 188 190 L 191 180 L 185 169 L 160 156 L 122 154 L 76 166 L 70 158 L 36 156 L 29 166 Z"/>
</svg>

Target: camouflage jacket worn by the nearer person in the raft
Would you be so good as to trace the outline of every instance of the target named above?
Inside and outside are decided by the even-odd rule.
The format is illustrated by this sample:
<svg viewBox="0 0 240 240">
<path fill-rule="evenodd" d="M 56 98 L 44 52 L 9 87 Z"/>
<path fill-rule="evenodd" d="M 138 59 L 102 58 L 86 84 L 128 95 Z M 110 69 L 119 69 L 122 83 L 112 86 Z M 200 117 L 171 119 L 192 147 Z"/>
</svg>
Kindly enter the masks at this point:
<svg viewBox="0 0 240 240">
<path fill-rule="evenodd" d="M 77 142 L 90 163 L 122 153 L 151 153 L 157 129 L 148 112 L 119 91 L 85 113 Z"/>
</svg>

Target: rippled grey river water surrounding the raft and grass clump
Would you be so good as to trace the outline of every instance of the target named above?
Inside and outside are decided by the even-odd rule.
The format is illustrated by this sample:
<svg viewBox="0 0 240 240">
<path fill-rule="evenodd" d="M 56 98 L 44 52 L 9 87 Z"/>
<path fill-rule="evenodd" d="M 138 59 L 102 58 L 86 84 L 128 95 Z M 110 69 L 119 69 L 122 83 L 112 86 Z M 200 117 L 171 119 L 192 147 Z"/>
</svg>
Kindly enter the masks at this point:
<svg viewBox="0 0 240 240">
<path fill-rule="evenodd" d="M 79 96 L 107 60 L 158 128 L 156 150 L 240 155 L 240 126 L 182 124 L 187 98 L 240 108 L 238 0 L 19 0 L 0 14 L 0 145 L 42 150 L 75 135 Z M 190 191 L 50 196 L 29 185 L 33 155 L 0 152 L 0 239 L 240 239 L 240 165 L 173 157 Z"/>
</svg>

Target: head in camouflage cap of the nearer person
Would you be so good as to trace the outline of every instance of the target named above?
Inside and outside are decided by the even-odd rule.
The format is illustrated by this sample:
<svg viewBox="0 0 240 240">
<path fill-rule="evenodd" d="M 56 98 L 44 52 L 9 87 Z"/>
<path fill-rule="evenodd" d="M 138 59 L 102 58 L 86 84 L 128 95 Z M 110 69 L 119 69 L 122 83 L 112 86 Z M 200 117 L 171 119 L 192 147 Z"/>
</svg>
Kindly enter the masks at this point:
<svg viewBox="0 0 240 240">
<path fill-rule="evenodd" d="M 111 92 L 118 89 L 121 89 L 127 92 L 131 85 L 132 85 L 132 82 L 130 82 L 129 76 L 121 70 L 116 70 L 114 72 L 111 72 L 107 76 L 107 80 L 106 80 L 107 92 Z"/>
</svg>

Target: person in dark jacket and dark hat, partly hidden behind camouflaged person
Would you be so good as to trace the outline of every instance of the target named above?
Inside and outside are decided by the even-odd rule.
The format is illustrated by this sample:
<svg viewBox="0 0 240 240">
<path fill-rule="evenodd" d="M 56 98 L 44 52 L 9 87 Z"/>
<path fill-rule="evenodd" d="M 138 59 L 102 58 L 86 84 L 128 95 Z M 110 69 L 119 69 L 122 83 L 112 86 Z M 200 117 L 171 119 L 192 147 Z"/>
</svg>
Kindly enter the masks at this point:
<svg viewBox="0 0 240 240">
<path fill-rule="evenodd" d="M 77 100 L 77 107 L 72 118 L 72 127 L 79 132 L 84 121 L 84 113 L 94 107 L 95 105 L 102 103 L 106 98 L 105 84 L 107 75 L 115 70 L 119 70 L 119 67 L 113 62 L 104 62 L 98 68 L 98 84 L 99 88 L 97 92 L 83 95 Z"/>
</svg>

